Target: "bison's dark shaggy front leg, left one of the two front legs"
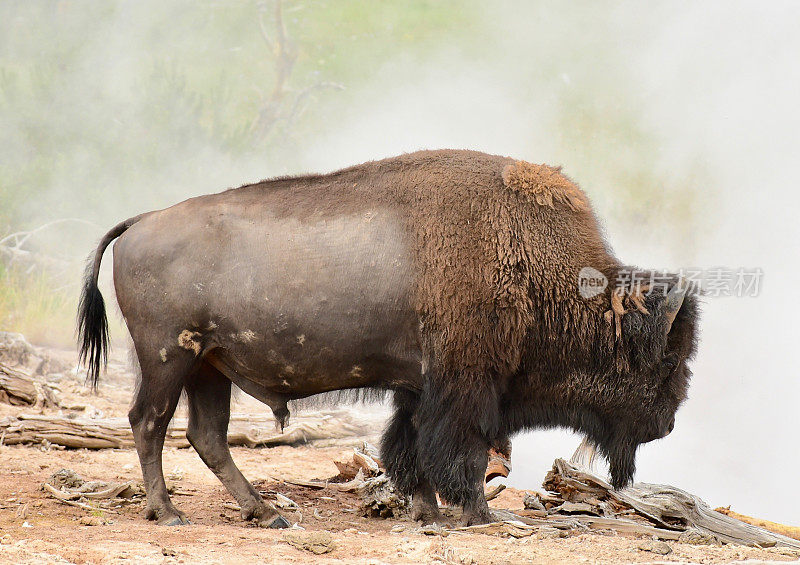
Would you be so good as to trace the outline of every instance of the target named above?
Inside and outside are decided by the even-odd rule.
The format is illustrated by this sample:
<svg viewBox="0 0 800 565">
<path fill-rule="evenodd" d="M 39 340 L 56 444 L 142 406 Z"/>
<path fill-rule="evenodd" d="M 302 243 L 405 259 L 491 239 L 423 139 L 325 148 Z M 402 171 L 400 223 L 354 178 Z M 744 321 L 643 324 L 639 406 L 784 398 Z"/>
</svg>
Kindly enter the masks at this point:
<svg viewBox="0 0 800 565">
<path fill-rule="evenodd" d="M 395 487 L 411 496 L 411 517 L 424 524 L 444 523 L 436 491 L 421 469 L 418 458 L 414 412 L 419 397 L 409 392 L 394 393 L 395 412 L 381 439 L 381 459 Z"/>
</svg>

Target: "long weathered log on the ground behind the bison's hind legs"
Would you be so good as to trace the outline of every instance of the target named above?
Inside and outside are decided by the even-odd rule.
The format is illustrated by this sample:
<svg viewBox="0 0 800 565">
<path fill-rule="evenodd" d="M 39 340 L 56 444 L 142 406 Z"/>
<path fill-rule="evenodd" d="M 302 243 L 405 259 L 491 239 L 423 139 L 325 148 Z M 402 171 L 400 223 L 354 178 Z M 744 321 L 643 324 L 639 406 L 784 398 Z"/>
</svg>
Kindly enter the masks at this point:
<svg viewBox="0 0 800 565">
<path fill-rule="evenodd" d="M 164 444 L 188 447 L 187 420 L 175 418 Z M 233 416 L 228 443 L 246 447 L 271 447 L 325 443 L 369 436 L 374 427 L 358 422 L 347 411 L 314 412 L 297 415 L 283 432 L 275 430 L 275 420 L 266 416 Z M 0 434 L 6 445 L 54 444 L 67 448 L 108 449 L 133 447 L 133 434 L 127 418 L 64 418 L 20 414 L 0 421 Z"/>
</svg>

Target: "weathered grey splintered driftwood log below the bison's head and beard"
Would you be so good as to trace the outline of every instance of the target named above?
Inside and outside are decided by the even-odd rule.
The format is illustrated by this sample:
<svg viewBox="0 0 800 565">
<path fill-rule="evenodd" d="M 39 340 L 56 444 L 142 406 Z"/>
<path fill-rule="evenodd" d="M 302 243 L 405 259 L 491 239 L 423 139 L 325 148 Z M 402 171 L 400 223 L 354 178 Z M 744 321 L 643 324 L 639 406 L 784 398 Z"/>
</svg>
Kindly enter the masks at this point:
<svg viewBox="0 0 800 565">
<path fill-rule="evenodd" d="M 563 459 L 556 459 L 544 487 L 550 494 L 541 496 L 540 502 L 547 510 L 548 523 L 569 516 L 589 528 L 661 539 L 800 548 L 797 540 L 716 512 L 681 489 L 636 483 L 615 491 L 603 479 Z"/>
</svg>

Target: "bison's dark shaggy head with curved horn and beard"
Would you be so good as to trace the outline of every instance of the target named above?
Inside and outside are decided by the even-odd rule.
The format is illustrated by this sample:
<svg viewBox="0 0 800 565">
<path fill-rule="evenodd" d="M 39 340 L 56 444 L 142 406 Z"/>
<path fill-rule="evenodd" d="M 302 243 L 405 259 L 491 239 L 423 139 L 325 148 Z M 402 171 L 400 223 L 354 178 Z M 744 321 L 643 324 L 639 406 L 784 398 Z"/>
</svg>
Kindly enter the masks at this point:
<svg viewBox="0 0 800 565">
<path fill-rule="evenodd" d="M 623 309 L 614 333 L 613 363 L 595 385 L 601 389 L 589 438 L 609 461 L 615 488 L 627 486 L 639 445 L 668 435 L 686 399 L 695 352 L 696 297 L 675 281 L 668 292 L 640 297 Z M 606 387 L 603 390 L 603 387 Z"/>
</svg>

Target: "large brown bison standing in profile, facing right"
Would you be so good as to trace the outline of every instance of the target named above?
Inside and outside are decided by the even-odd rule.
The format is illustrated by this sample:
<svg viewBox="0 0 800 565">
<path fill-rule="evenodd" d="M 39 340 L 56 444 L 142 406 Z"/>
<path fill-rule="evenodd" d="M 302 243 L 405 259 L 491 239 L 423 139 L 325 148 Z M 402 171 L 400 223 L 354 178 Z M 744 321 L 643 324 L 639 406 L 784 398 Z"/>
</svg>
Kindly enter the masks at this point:
<svg viewBox="0 0 800 565">
<path fill-rule="evenodd" d="M 265 527 L 288 522 L 231 458 L 231 384 L 280 422 L 291 400 L 391 394 L 388 475 L 414 518 L 442 519 L 438 492 L 465 524 L 491 519 L 489 447 L 520 430 L 570 428 L 620 488 L 637 447 L 672 430 L 686 397 L 696 298 L 676 276 L 665 292 L 582 293 L 582 269 L 616 281 L 630 267 L 559 168 L 420 151 L 126 220 L 90 258 L 79 306 L 94 385 L 108 348 L 97 278 L 114 239 L 114 287 L 141 369 L 129 419 L 146 514 L 160 524 L 187 522 L 161 464 L 183 391 L 192 446 L 242 517 Z"/>
</svg>

